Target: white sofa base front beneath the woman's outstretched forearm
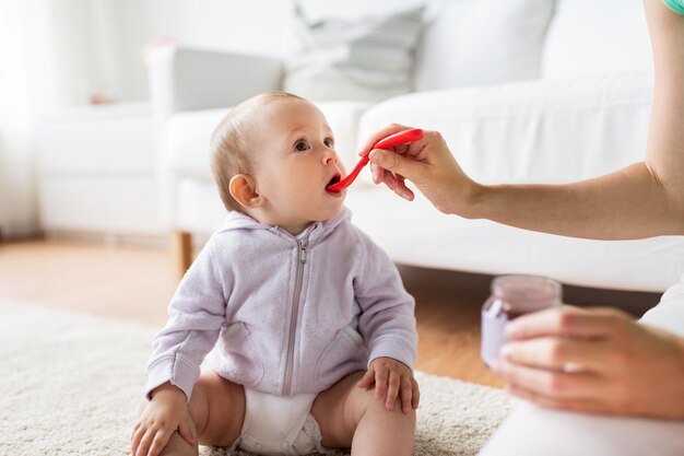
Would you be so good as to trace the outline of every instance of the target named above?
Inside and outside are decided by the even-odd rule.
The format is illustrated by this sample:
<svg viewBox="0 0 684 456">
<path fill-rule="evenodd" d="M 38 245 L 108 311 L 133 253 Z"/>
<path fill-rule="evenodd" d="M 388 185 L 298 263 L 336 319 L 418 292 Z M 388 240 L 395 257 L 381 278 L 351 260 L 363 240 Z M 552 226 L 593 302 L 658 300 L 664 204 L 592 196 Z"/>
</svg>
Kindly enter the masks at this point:
<svg viewBox="0 0 684 456">
<path fill-rule="evenodd" d="M 392 260 L 487 274 L 532 273 L 564 283 L 662 292 L 684 271 L 682 236 L 590 241 L 446 215 L 421 195 L 408 202 L 385 187 L 353 187 L 352 222 Z M 410 246 L 410 247 L 408 247 Z"/>
</svg>

